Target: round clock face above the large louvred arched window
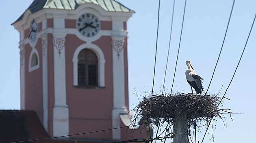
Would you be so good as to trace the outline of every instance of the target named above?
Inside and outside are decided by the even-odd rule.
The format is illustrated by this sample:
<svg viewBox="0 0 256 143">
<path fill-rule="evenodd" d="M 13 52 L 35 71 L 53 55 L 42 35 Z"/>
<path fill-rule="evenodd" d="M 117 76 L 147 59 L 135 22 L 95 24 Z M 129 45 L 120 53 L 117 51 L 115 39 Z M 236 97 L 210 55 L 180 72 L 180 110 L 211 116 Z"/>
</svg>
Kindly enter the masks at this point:
<svg viewBox="0 0 256 143">
<path fill-rule="evenodd" d="M 100 31 L 100 20 L 92 13 L 84 13 L 76 20 L 76 28 L 82 36 L 93 37 Z"/>
</svg>

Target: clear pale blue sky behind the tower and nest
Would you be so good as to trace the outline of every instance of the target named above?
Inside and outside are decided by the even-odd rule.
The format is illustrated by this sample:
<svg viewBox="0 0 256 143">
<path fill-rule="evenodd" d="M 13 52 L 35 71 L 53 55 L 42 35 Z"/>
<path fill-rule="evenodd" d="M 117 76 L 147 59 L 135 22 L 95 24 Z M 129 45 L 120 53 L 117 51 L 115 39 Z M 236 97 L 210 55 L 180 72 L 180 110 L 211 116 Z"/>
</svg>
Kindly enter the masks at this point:
<svg viewBox="0 0 256 143">
<path fill-rule="evenodd" d="M 0 109 L 20 109 L 20 55 L 18 49 L 19 34 L 11 26 L 31 4 L 33 0 L 2 1 L 0 15 Z M 152 90 L 154 55 L 157 30 L 157 0 L 119 0 L 122 4 L 136 11 L 128 21 L 128 76 L 130 109 L 136 107 L 145 92 Z M 180 54 L 176 69 L 173 92 L 190 92 L 185 78 L 189 59 L 195 72 L 203 80 L 207 89 L 213 69 L 223 42 L 233 0 L 187 0 L 186 13 Z M 154 92 L 160 94 L 165 73 L 165 64 L 169 45 L 169 32 L 172 14 L 172 0 L 161 0 L 158 50 L 156 59 L 156 75 Z M 178 52 L 184 0 L 176 0 L 174 11 L 173 33 L 165 92 L 169 93 L 174 75 L 174 67 Z M 245 46 L 254 15 L 255 0 L 236 0 L 230 20 L 230 26 L 217 65 L 215 76 L 208 94 L 220 92 L 224 94 Z M 245 53 L 236 71 L 236 75 L 223 100 L 224 108 L 231 109 L 232 121 L 227 115 L 225 124 L 221 119 L 215 121 L 213 131 L 215 143 L 253 142 L 255 113 L 255 53 L 256 24 L 252 29 Z M 221 89 L 222 88 L 222 89 Z M 135 94 L 137 93 L 138 96 Z M 224 127 L 224 128 L 223 128 Z M 203 127 L 203 133 L 205 128 Z M 211 132 L 206 136 L 205 143 L 213 142 Z M 197 134 L 201 141 L 202 135 Z"/>
</svg>

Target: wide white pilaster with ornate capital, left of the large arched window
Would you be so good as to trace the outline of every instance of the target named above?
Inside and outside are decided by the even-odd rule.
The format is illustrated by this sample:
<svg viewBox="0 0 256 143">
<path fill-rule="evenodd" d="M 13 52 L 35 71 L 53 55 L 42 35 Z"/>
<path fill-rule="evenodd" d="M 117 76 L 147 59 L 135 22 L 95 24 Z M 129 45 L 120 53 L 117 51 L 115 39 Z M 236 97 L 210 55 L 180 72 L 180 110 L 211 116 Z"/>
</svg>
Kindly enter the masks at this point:
<svg viewBox="0 0 256 143">
<path fill-rule="evenodd" d="M 53 34 L 54 43 L 54 107 L 53 136 L 69 135 L 69 112 L 66 103 L 65 36 Z M 60 50 L 61 53 L 60 53 Z M 60 56 L 63 54 L 63 56 Z"/>
</svg>

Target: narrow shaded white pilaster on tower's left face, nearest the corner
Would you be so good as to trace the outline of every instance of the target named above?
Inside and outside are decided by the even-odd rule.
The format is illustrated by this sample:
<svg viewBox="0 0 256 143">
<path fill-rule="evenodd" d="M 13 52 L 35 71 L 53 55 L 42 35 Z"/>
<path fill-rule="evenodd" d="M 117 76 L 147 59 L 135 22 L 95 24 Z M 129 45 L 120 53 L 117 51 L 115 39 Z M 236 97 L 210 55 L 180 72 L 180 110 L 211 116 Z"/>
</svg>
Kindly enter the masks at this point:
<svg viewBox="0 0 256 143">
<path fill-rule="evenodd" d="M 47 34 L 42 36 L 42 53 L 43 53 L 43 126 L 48 131 L 48 64 L 47 64 Z"/>
</svg>

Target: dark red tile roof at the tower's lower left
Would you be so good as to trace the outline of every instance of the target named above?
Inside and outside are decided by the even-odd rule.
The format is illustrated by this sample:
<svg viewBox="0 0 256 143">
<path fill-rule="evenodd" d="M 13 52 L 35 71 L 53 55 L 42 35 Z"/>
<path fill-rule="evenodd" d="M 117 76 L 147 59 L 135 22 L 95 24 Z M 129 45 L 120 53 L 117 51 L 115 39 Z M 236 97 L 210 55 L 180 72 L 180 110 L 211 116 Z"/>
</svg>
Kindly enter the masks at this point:
<svg viewBox="0 0 256 143">
<path fill-rule="evenodd" d="M 0 143 L 26 141 L 24 143 L 100 143 L 101 141 L 82 141 L 72 138 L 48 138 L 35 111 L 0 110 Z M 37 141 L 28 141 L 43 139 Z"/>
</svg>

